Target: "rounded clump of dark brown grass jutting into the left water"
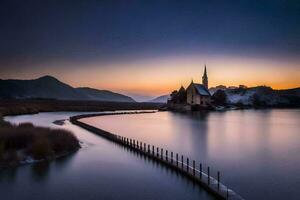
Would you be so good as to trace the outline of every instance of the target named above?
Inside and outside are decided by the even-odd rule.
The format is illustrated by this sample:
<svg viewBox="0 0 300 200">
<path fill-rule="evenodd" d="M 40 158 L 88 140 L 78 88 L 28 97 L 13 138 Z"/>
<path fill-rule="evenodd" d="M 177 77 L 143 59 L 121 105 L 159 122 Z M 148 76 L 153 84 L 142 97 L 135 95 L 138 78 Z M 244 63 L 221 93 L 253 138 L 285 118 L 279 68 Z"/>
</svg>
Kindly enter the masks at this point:
<svg viewBox="0 0 300 200">
<path fill-rule="evenodd" d="M 0 162 L 22 160 L 18 152 L 34 159 L 48 159 L 75 151 L 78 139 L 69 131 L 36 127 L 31 123 L 12 125 L 0 120 Z"/>
</svg>

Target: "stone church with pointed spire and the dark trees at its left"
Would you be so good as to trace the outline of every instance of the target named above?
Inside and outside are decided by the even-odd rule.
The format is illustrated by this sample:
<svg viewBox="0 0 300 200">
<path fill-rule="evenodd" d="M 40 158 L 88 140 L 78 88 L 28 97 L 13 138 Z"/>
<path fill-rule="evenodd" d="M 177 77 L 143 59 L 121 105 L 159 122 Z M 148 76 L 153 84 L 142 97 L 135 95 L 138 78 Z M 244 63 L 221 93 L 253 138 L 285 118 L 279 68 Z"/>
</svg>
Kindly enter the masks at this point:
<svg viewBox="0 0 300 200">
<path fill-rule="evenodd" d="M 211 106 L 206 65 L 202 76 L 202 84 L 192 81 L 186 90 L 181 86 L 178 91 L 175 90 L 172 92 L 168 105 L 171 108 L 184 106 L 183 109 L 185 110 L 190 110 L 191 107 L 205 108 Z"/>
</svg>

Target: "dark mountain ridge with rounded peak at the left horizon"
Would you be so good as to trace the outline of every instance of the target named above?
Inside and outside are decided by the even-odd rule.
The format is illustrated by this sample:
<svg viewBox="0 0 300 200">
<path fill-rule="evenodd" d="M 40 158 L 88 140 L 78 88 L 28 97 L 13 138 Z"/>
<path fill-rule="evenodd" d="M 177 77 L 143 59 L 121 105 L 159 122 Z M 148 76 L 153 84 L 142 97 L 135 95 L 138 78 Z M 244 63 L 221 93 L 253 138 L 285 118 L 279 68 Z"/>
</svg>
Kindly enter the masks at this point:
<svg viewBox="0 0 300 200">
<path fill-rule="evenodd" d="M 107 90 L 73 88 L 52 76 L 33 80 L 0 79 L 0 99 L 30 98 L 134 102 L 128 96 Z"/>
</svg>

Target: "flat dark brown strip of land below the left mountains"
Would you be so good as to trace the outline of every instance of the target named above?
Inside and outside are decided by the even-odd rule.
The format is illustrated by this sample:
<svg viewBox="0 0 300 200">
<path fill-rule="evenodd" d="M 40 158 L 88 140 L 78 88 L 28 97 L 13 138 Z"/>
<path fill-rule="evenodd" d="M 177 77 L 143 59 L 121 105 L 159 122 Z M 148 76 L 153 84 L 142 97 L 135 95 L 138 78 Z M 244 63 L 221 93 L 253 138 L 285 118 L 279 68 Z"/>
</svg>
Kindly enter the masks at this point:
<svg viewBox="0 0 300 200">
<path fill-rule="evenodd" d="M 99 112 L 114 110 L 155 110 L 163 104 L 137 102 L 67 101 L 49 99 L 0 100 L 0 114 L 20 115 L 38 112 L 82 111 Z"/>
</svg>

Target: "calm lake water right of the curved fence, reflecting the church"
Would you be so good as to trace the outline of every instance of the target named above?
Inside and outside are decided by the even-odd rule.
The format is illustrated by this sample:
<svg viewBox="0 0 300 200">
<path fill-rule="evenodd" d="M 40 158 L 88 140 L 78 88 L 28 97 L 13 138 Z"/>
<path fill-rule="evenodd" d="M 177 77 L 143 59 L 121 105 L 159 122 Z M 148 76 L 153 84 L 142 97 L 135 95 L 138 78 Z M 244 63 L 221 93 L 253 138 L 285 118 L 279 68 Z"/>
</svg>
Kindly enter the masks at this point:
<svg viewBox="0 0 300 200">
<path fill-rule="evenodd" d="M 299 199 L 300 110 L 159 112 L 82 121 L 202 161 L 246 199 Z"/>
</svg>

